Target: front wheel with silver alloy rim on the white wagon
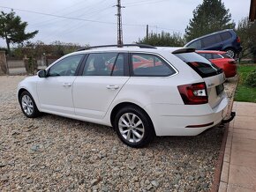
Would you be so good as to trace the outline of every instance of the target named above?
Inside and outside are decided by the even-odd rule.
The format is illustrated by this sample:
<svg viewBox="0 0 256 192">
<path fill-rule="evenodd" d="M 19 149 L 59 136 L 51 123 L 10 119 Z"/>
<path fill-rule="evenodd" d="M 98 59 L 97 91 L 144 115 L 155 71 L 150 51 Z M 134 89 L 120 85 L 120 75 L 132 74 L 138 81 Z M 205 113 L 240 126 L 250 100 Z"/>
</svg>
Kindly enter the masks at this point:
<svg viewBox="0 0 256 192">
<path fill-rule="evenodd" d="M 35 118 L 41 114 L 29 92 L 24 91 L 20 94 L 19 105 L 23 114 L 25 114 L 28 118 Z"/>
</svg>

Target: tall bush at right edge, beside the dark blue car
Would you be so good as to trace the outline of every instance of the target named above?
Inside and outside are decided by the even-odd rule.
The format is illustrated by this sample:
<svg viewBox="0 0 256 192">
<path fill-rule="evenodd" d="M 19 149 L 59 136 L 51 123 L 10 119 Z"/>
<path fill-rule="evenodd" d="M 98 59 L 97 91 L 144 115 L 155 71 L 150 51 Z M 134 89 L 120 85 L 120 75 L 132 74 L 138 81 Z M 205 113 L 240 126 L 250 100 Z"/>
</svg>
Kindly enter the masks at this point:
<svg viewBox="0 0 256 192">
<path fill-rule="evenodd" d="M 251 22 L 248 17 L 242 18 L 236 32 L 243 46 L 241 57 L 252 54 L 253 62 L 256 63 L 256 21 Z"/>
</svg>

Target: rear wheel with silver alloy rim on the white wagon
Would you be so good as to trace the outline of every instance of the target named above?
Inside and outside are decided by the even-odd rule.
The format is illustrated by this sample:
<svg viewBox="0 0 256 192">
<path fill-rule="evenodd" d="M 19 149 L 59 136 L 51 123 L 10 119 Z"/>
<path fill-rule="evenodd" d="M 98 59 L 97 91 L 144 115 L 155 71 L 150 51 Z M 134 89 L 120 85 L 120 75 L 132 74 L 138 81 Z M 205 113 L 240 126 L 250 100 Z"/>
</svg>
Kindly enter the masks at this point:
<svg viewBox="0 0 256 192">
<path fill-rule="evenodd" d="M 127 106 L 118 111 L 114 128 L 121 141 L 134 148 L 149 144 L 155 136 L 149 116 L 134 106 Z"/>
</svg>

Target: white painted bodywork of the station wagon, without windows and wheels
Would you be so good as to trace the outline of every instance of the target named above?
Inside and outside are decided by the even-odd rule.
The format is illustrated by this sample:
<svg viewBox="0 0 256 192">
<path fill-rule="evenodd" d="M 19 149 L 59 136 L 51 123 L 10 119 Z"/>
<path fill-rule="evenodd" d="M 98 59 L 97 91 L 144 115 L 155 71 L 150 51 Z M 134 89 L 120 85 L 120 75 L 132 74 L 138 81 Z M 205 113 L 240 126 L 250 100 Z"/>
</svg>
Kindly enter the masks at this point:
<svg viewBox="0 0 256 192">
<path fill-rule="evenodd" d="M 170 77 L 104 77 L 71 76 L 55 78 L 26 78 L 19 84 L 34 98 L 41 112 L 62 115 L 72 119 L 111 126 L 110 116 L 114 107 L 120 103 L 132 103 L 146 111 L 154 124 L 157 136 L 194 136 L 205 129 L 222 122 L 228 106 L 224 92 L 216 95 L 215 86 L 223 83 L 222 74 L 201 78 L 187 64 L 171 52 L 178 48 L 104 48 L 80 51 L 70 55 L 97 52 L 132 52 L 160 55 L 176 70 Z M 69 56 L 65 55 L 64 57 Z M 64 58 L 63 57 L 63 58 Z M 61 59 L 63 59 L 61 58 Z M 59 59 L 58 61 L 60 61 Z M 56 63 L 58 62 L 56 61 Z M 52 63 L 47 70 L 54 65 Z M 207 104 L 184 105 L 178 85 L 205 82 L 207 85 Z M 64 84 L 71 84 L 64 86 Z M 117 89 L 108 89 L 115 85 Z M 214 122 L 200 128 L 185 128 Z"/>
</svg>

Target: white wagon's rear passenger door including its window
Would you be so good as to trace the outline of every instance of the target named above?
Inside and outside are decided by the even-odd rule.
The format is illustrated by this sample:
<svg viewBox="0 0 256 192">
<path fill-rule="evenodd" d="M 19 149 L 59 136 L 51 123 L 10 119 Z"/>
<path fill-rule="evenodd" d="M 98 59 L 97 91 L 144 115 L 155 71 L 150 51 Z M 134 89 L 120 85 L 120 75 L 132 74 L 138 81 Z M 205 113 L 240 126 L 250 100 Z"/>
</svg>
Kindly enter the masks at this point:
<svg viewBox="0 0 256 192">
<path fill-rule="evenodd" d="M 73 84 L 76 115 L 93 119 L 104 117 L 117 93 L 130 78 L 127 58 L 127 54 L 112 52 L 88 55 L 81 76 Z"/>
</svg>

